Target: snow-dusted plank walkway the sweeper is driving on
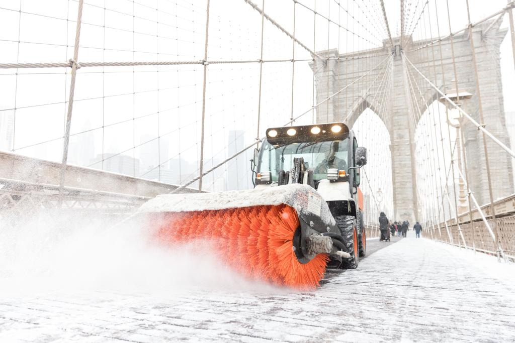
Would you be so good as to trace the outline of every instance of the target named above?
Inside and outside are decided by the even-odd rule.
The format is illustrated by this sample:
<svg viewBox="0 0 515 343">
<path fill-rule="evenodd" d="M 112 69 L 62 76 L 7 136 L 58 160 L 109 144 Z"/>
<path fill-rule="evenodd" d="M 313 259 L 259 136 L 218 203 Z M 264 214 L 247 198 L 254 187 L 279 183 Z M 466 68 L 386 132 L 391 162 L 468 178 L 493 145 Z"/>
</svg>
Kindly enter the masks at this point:
<svg viewBox="0 0 515 343">
<path fill-rule="evenodd" d="M 0 341 L 515 341 L 514 279 L 514 265 L 407 238 L 308 293 L 0 294 Z"/>
</svg>

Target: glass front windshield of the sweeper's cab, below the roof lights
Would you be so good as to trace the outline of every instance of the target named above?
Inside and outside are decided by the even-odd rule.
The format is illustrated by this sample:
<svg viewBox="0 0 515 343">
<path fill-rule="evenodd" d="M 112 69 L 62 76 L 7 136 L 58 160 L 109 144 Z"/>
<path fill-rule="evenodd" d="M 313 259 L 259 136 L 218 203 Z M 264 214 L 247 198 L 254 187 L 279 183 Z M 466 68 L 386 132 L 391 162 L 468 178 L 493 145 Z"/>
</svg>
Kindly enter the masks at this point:
<svg viewBox="0 0 515 343">
<path fill-rule="evenodd" d="M 260 149 L 259 170 L 271 173 L 272 181 L 277 182 L 281 170 L 294 168 L 294 158 L 304 158 L 306 170 L 313 171 L 313 180 L 327 178 L 327 170 L 336 168 L 347 171 L 349 139 L 303 142 L 271 145 L 267 140 Z"/>
</svg>

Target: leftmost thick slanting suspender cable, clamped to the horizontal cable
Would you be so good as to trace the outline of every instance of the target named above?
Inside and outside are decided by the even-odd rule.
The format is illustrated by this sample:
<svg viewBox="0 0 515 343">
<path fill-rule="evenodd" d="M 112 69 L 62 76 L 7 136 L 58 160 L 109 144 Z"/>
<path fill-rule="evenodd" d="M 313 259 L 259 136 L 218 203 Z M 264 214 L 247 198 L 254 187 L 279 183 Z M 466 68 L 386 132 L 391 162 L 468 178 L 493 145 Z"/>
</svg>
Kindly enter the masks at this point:
<svg viewBox="0 0 515 343">
<path fill-rule="evenodd" d="M 72 124 L 73 98 L 75 95 L 75 79 L 77 76 L 77 69 L 80 68 L 80 65 L 78 64 L 77 60 L 79 58 L 80 25 L 82 23 L 83 4 L 84 0 L 79 0 L 79 6 L 77 9 L 77 28 L 75 30 L 75 46 L 73 49 L 73 60 L 70 61 L 72 63 L 72 77 L 70 80 L 70 98 L 68 99 L 68 113 L 66 115 L 66 128 L 64 131 L 63 158 L 59 177 L 59 195 L 61 197 L 64 192 L 64 174 L 66 172 L 66 163 L 68 160 L 68 146 L 70 145 L 70 128 Z"/>
</svg>

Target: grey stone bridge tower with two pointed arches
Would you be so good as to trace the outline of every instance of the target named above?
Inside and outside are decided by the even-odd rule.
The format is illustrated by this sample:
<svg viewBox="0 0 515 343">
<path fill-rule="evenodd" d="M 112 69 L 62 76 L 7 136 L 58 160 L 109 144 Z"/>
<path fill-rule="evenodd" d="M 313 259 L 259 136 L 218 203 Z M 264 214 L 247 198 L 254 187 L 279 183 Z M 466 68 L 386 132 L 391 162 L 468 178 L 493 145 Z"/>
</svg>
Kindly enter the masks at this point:
<svg viewBox="0 0 515 343">
<path fill-rule="evenodd" d="M 500 45 L 507 30 L 500 29 L 500 24 L 500 21 L 483 23 L 473 29 L 473 37 L 469 37 L 468 30 L 466 30 L 464 33 L 453 37 L 453 44 L 458 86 L 460 90 L 466 90 L 472 94 L 472 98 L 467 100 L 462 108 L 477 122 L 480 122 L 470 46 L 470 39 L 473 39 L 486 128 L 509 146 L 500 66 Z M 403 45 L 407 42 L 403 50 L 406 57 L 432 81 L 435 79 L 436 70 L 436 85 L 443 92 L 454 93 L 453 80 L 455 78 L 450 39 L 442 39 L 441 41 L 443 73 L 445 73 L 445 88 L 447 89 L 443 89 L 439 44 L 434 44 L 419 51 L 410 51 L 431 41 L 413 42 L 411 37 L 403 37 L 403 42 Z M 408 218 L 413 223 L 414 220 L 418 220 L 415 132 L 413 129 L 416 127 L 418 119 L 413 125 L 411 109 L 413 107 L 417 109 L 418 105 L 421 112 L 424 113 L 427 106 L 430 106 L 440 96 L 429 84 L 419 83 L 423 97 L 418 97 L 418 89 L 416 89 L 419 103 L 413 104 L 412 107 L 411 98 L 408 96 L 410 91 L 407 84 L 407 67 L 404 66 L 400 56 L 400 37 L 394 38 L 393 43 L 396 46 L 393 51 L 389 42 L 385 41 L 382 48 L 342 55 L 339 55 L 336 49 L 319 52 L 322 57 L 337 58 L 339 56 L 340 60 L 317 61 L 311 65 L 316 74 L 317 103 L 326 99 L 328 94 L 334 94 L 362 77 L 367 71 L 387 58 L 390 53 L 393 55 L 393 60 L 391 69 L 392 87 L 390 90 L 391 106 L 389 108 L 385 108 L 382 103 L 384 99 L 374 98 L 373 96 L 380 85 L 381 77 L 371 86 L 368 91 L 369 95 L 364 97 L 371 81 L 377 77 L 377 74 L 383 73 L 384 69 L 379 67 L 366 76 L 366 81 L 363 79 L 357 81 L 353 86 L 342 91 L 331 100 L 319 105 L 317 108 L 317 122 L 345 121 L 349 127 L 352 127 L 359 115 L 367 108 L 370 108 L 383 120 L 390 134 L 390 151 L 392 161 L 394 161 L 392 163 L 394 218 Z M 433 66 L 433 51 L 436 68 Z M 357 63 L 356 61 L 359 59 L 362 59 L 362 62 Z M 409 73 L 413 74 L 413 69 L 410 68 Z M 418 113 L 415 115 L 415 118 L 417 117 Z M 467 161 L 470 166 L 470 188 L 474 191 L 480 204 L 487 204 L 489 203 L 489 192 L 482 134 L 467 120 L 465 120 L 462 129 L 465 135 Z M 513 193 L 510 156 L 489 138 L 487 138 L 487 148 L 493 183 L 493 197 L 495 199 L 507 196 Z"/>
</svg>

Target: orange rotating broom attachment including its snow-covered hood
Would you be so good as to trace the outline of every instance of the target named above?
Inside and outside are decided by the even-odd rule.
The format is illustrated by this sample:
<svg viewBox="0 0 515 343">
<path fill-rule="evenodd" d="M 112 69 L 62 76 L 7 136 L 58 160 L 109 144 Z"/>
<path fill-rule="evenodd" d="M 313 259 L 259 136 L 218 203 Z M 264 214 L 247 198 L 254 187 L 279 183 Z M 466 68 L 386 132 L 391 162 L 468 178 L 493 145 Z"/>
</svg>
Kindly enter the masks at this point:
<svg viewBox="0 0 515 343">
<path fill-rule="evenodd" d="M 238 273 L 276 285 L 312 290 L 323 278 L 329 254 L 340 257 L 340 261 L 346 257 L 344 251 L 338 251 L 339 244 L 334 239 L 339 231 L 334 220 L 331 222 L 327 204 L 312 188 L 276 188 L 163 195 L 144 205 L 140 212 L 159 213 L 149 218 L 150 223 L 158 225 L 156 235 L 163 242 L 176 245 L 209 241 L 212 249 Z M 322 227 L 323 232 L 314 227 Z"/>
</svg>

